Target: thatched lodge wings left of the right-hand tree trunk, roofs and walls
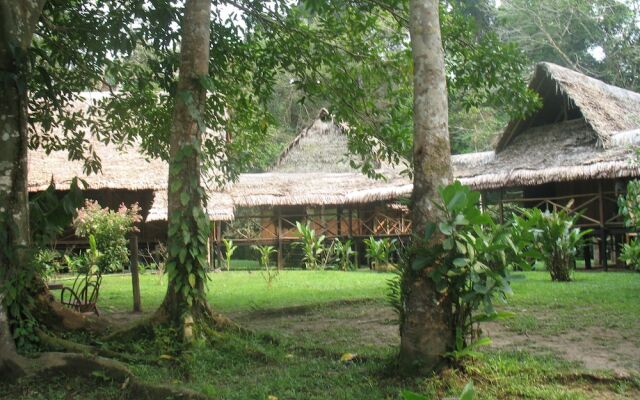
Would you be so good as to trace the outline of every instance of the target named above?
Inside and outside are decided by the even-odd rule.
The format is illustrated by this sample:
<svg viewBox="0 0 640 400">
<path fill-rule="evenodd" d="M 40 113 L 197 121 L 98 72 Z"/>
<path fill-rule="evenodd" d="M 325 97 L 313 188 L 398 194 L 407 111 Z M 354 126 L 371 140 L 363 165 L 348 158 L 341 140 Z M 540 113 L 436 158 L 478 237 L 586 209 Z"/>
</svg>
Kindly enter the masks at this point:
<svg viewBox="0 0 640 400">
<path fill-rule="evenodd" d="M 101 95 L 87 93 L 87 100 L 92 96 Z M 91 145 L 102 161 L 100 174 L 86 175 L 83 163 L 69 161 L 66 152 L 31 151 L 29 191 L 45 190 L 52 182 L 56 190 L 68 190 L 71 180 L 81 177 L 89 187 L 85 196 L 102 206 L 139 203 L 141 246 L 151 249 L 166 241 L 167 163 L 147 159 L 136 146 L 117 148 L 95 140 Z M 286 264 L 290 244 L 298 240 L 296 222 L 309 223 L 327 239 L 351 238 L 356 246 L 369 236 L 407 237 L 411 221 L 407 207 L 398 203 L 412 190 L 411 180 L 401 173 L 406 165 L 380 163 L 376 172 L 385 179 L 374 180 L 353 169 L 354 156 L 347 153 L 344 128 L 325 112 L 289 144 L 269 172 L 241 174 L 224 190 L 209 190 L 212 254 L 220 254 L 222 239 L 240 247 L 269 244 L 279 250 L 278 264 Z M 57 244 L 83 243 L 69 230 Z"/>
</svg>

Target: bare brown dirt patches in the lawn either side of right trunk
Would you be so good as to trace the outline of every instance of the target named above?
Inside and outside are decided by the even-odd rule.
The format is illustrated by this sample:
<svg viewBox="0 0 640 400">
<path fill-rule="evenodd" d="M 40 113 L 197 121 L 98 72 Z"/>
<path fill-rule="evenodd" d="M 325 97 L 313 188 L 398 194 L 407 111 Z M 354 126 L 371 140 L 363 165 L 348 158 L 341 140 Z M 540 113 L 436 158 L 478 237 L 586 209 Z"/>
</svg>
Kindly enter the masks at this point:
<svg viewBox="0 0 640 400">
<path fill-rule="evenodd" d="M 233 317 L 258 331 L 274 331 L 289 337 L 306 335 L 337 347 L 397 346 L 400 341 L 395 314 L 379 302 L 255 310 L 234 313 Z M 483 329 L 491 336 L 493 348 L 555 354 L 580 362 L 587 369 L 613 370 L 621 375 L 640 371 L 640 347 L 612 329 L 591 327 L 553 337 L 519 335 L 499 323 L 486 324 Z"/>
</svg>

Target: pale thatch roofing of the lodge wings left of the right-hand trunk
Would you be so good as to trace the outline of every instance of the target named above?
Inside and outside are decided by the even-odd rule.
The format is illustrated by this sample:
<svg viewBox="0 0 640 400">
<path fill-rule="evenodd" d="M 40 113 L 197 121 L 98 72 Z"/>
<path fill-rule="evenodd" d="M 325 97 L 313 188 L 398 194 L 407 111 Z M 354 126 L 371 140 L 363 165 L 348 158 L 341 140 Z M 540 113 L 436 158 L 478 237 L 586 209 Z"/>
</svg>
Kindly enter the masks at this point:
<svg viewBox="0 0 640 400">
<path fill-rule="evenodd" d="M 85 94 L 75 105 L 83 111 L 101 94 Z M 46 189 L 54 183 L 66 190 L 74 177 L 84 179 L 90 189 L 153 190 L 154 200 L 146 220 L 167 219 L 168 165 L 148 159 L 138 146 L 118 147 L 98 142 L 89 132 L 85 138 L 102 161 L 102 172 L 87 175 L 81 161 L 70 161 L 65 151 L 47 154 L 39 149 L 29 152 L 29 190 Z M 237 207 L 275 207 L 284 205 L 347 205 L 386 201 L 409 195 L 411 180 L 401 167 L 381 164 L 376 172 L 385 179 L 370 179 L 351 167 L 344 127 L 327 114 L 305 129 L 283 152 L 272 171 L 241 174 L 237 182 L 224 190 L 209 189 L 207 212 L 212 220 L 234 218 Z"/>
</svg>

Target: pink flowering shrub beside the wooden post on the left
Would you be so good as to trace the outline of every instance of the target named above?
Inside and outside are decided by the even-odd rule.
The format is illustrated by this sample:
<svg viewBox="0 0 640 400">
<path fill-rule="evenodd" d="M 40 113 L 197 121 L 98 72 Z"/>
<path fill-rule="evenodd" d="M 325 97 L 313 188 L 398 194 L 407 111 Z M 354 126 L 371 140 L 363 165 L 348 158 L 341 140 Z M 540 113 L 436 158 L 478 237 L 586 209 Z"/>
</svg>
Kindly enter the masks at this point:
<svg viewBox="0 0 640 400">
<path fill-rule="evenodd" d="M 117 211 L 102 208 L 95 200 L 86 200 L 84 207 L 76 210 L 73 227 L 76 236 L 95 237 L 97 250 L 102 254 L 99 262 L 101 272 L 122 270 L 129 262 L 127 233 L 137 232 L 135 224 L 140 222 L 138 203 L 127 208 L 120 204 Z"/>
</svg>

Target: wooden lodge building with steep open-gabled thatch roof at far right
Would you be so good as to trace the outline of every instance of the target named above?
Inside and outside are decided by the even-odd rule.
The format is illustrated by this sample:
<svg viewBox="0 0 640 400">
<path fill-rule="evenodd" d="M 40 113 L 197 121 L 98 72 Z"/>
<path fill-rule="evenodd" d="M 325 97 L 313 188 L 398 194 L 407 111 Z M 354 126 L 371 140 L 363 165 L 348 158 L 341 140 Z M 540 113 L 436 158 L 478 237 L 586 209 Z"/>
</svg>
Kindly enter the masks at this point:
<svg viewBox="0 0 640 400">
<path fill-rule="evenodd" d="M 454 175 L 497 204 L 501 218 L 511 204 L 580 212 L 606 267 L 607 251 L 615 260 L 625 240 L 618 196 L 640 175 L 640 94 L 550 63 L 537 65 L 529 87 L 543 107 L 511 121 L 494 151 L 454 156 Z"/>
</svg>

